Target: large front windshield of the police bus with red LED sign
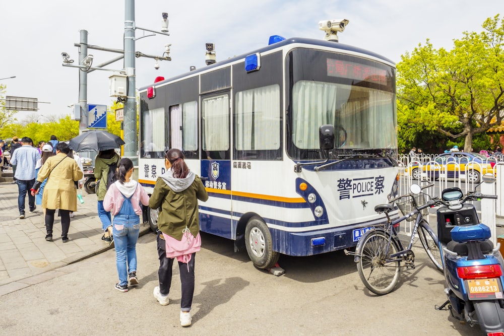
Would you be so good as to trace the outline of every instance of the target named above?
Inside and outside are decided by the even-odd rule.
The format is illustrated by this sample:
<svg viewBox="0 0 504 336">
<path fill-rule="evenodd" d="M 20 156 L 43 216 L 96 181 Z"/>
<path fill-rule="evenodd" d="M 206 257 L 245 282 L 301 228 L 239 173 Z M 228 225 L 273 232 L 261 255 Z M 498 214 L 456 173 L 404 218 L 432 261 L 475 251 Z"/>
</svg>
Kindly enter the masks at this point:
<svg viewBox="0 0 504 336">
<path fill-rule="evenodd" d="M 298 50 L 297 54 L 290 59 L 288 153 L 293 159 L 325 157 L 319 148 L 319 127 L 324 124 L 335 127 L 335 157 L 397 149 L 391 66 L 313 50 Z M 320 62 L 319 71 L 304 74 L 307 67 L 303 62 L 313 64 L 314 59 Z"/>
</svg>

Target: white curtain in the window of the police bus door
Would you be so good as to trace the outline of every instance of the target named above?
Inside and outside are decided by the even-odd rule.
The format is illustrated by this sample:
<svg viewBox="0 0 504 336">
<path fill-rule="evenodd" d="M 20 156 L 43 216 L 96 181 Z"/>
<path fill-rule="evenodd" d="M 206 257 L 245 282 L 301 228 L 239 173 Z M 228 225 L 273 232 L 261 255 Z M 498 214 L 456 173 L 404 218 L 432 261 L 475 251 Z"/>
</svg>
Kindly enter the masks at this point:
<svg viewBox="0 0 504 336">
<path fill-rule="evenodd" d="M 203 150 L 229 149 L 229 96 L 204 99 L 202 102 Z"/>
</svg>

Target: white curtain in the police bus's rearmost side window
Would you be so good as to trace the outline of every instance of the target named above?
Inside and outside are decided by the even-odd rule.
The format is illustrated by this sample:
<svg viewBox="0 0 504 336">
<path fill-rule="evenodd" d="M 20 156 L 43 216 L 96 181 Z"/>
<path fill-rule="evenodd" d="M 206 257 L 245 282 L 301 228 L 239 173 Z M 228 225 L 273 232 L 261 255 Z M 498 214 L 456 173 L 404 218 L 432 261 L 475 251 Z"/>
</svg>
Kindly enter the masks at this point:
<svg viewBox="0 0 504 336">
<path fill-rule="evenodd" d="M 162 154 L 166 147 L 164 108 L 146 111 L 143 118 L 143 141 L 140 144 L 142 156 L 146 158 L 163 157 Z"/>
</svg>

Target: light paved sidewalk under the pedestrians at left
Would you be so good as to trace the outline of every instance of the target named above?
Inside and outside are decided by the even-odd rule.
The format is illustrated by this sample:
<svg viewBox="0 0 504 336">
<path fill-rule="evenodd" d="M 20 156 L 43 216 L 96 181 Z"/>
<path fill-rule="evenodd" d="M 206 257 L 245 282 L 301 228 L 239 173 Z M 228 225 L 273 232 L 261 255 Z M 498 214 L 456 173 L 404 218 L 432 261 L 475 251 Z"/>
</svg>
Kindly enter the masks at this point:
<svg viewBox="0 0 504 336">
<path fill-rule="evenodd" d="M 58 272 L 48 271 L 113 248 L 101 240 L 96 194 L 82 195 L 84 204 L 78 203 L 70 221 L 70 241 L 62 243 L 61 222 L 55 218 L 54 239 L 48 242 L 42 208 L 30 214 L 27 196 L 26 217 L 19 219 L 17 184 L 0 183 L 0 296 L 57 277 Z M 142 224 L 140 235 L 149 230 Z"/>
</svg>

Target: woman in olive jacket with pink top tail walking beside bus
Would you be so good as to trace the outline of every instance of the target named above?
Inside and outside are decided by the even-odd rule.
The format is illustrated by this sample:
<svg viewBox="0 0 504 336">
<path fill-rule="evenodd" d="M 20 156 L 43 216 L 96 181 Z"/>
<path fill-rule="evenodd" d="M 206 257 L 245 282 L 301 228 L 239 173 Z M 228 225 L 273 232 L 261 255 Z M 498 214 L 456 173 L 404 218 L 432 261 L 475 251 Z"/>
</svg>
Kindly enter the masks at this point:
<svg viewBox="0 0 504 336">
<path fill-rule="evenodd" d="M 198 199 L 206 201 L 207 191 L 198 175 L 189 170 L 178 149 L 164 154 L 166 172 L 156 180 L 149 207 L 161 207 L 158 217 L 157 250 L 159 286 L 154 298 L 163 306 L 169 303 L 173 259 L 177 258 L 182 286 L 180 324 L 191 325 L 196 252 L 200 250 Z"/>
</svg>

